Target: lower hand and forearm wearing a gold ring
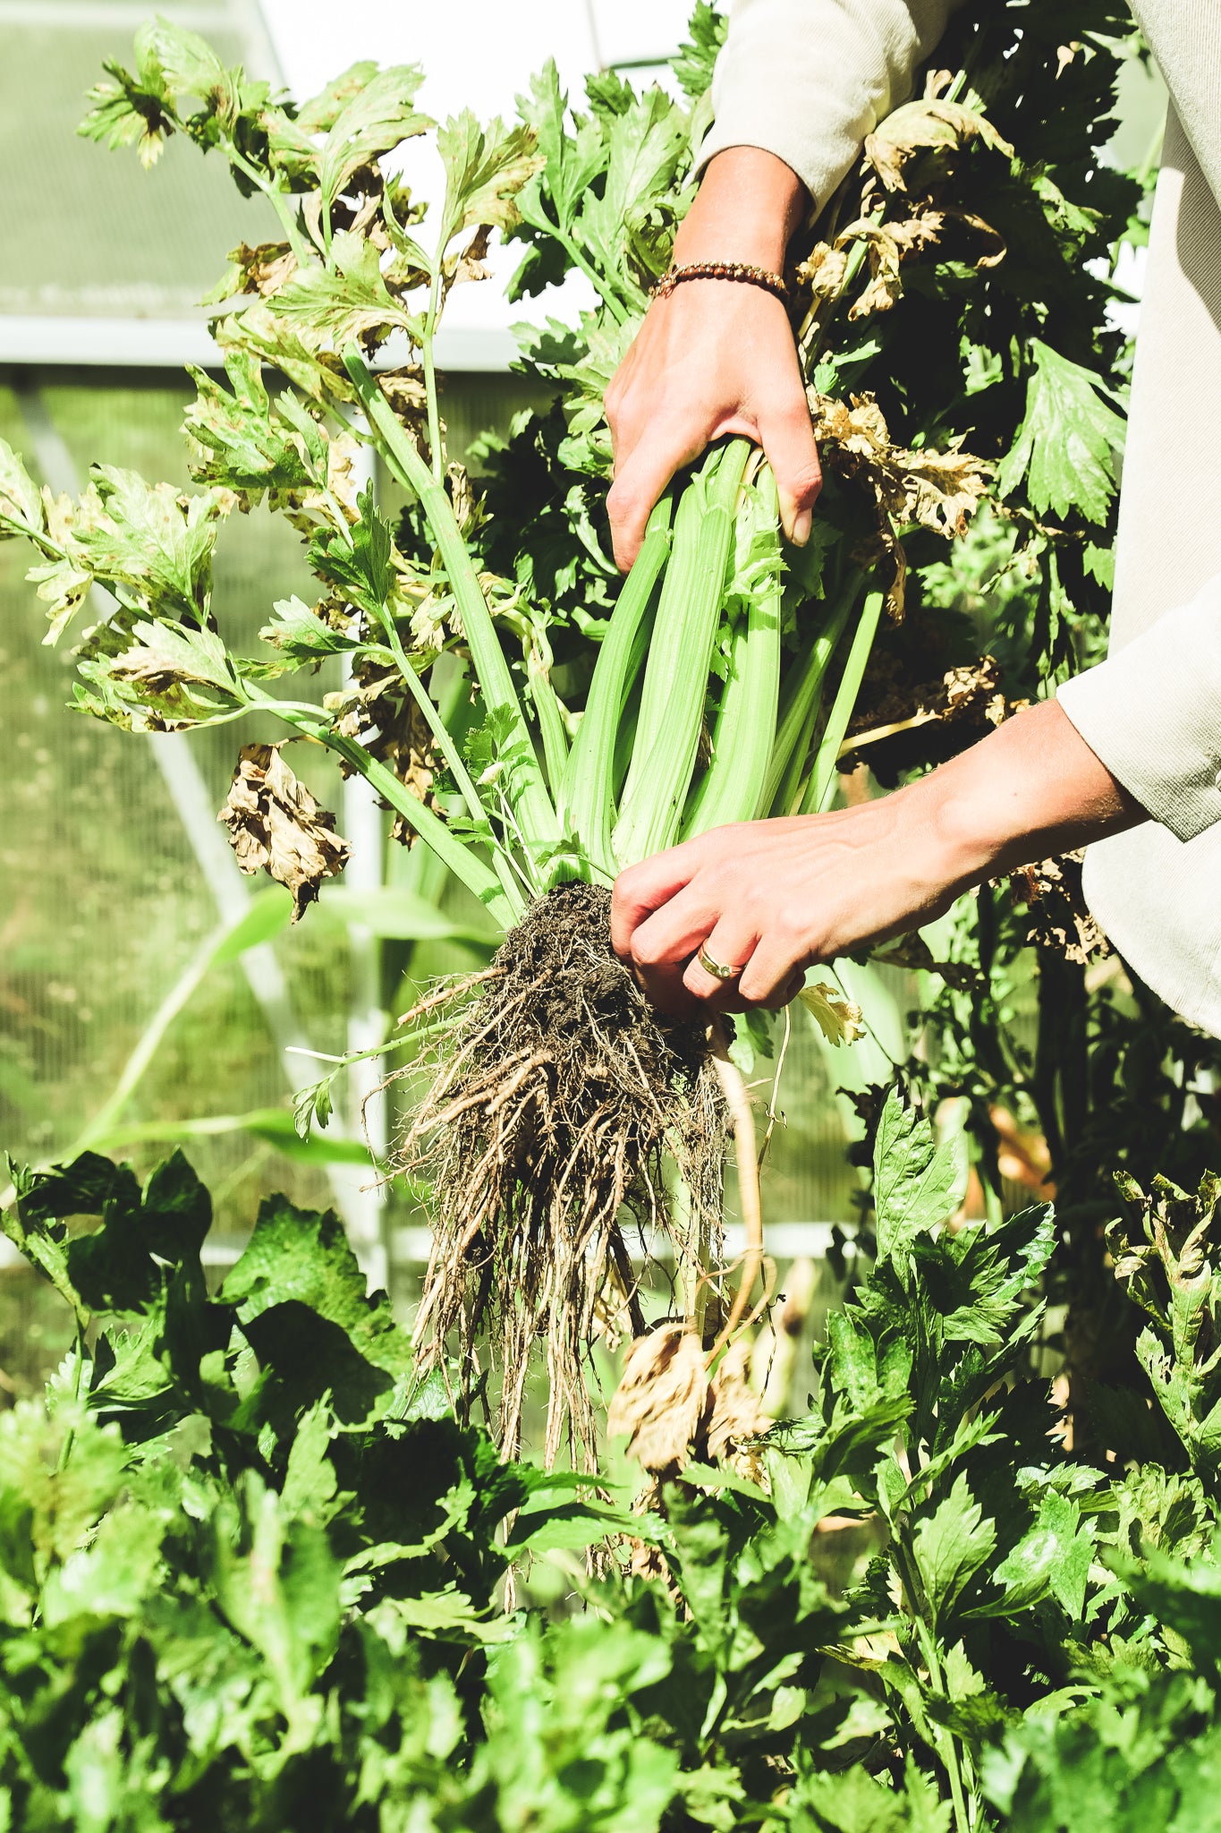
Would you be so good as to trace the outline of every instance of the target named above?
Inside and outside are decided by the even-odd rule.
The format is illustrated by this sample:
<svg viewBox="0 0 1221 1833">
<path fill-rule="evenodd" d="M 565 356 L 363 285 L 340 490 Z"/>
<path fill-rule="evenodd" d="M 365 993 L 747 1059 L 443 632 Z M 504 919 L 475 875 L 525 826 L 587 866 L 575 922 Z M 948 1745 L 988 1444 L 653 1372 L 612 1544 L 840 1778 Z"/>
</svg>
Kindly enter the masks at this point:
<svg viewBox="0 0 1221 1833">
<path fill-rule="evenodd" d="M 663 1012 L 776 1008 L 816 962 L 932 922 L 981 878 L 1142 819 L 1053 700 L 893 796 L 712 829 L 628 867 L 611 946 Z M 701 948 L 740 971 L 714 979 Z"/>
</svg>

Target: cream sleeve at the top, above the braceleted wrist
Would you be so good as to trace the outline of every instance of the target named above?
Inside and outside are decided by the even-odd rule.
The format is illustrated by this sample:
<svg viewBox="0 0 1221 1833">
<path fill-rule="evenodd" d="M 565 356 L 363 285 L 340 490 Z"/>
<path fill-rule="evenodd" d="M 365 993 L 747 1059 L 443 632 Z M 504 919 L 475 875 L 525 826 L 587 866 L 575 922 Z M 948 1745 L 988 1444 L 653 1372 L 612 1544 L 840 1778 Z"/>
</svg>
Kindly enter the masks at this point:
<svg viewBox="0 0 1221 1833">
<path fill-rule="evenodd" d="M 732 0 L 699 167 L 727 147 L 783 159 L 822 207 L 912 88 L 954 0 Z"/>
</svg>

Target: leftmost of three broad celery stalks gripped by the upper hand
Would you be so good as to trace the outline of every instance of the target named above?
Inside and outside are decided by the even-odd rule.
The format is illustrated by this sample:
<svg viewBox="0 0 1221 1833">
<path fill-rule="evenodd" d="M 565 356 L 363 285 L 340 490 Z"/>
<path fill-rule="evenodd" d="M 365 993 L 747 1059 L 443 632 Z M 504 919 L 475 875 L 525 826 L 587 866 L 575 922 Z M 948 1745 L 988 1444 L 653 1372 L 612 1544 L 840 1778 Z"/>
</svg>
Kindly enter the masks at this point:
<svg viewBox="0 0 1221 1833">
<path fill-rule="evenodd" d="M 641 634 L 654 587 L 670 554 L 670 515 L 666 493 L 654 508 L 644 543 L 619 594 L 602 636 L 599 660 L 589 682 L 586 711 L 567 755 L 558 790 L 562 819 L 578 836 L 593 869 L 610 884 L 615 876 L 611 825 L 615 818 L 615 737 L 624 702 L 641 662 Z"/>
</svg>

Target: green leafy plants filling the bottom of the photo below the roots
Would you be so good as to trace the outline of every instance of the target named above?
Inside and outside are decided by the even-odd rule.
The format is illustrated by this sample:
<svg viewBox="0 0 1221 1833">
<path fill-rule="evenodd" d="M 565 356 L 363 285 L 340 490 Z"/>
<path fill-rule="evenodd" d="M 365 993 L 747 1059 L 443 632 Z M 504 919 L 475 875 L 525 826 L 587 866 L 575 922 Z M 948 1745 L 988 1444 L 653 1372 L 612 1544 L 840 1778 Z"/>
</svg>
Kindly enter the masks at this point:
<svg viewBox="0 0 1221 1833">
<path fill-rule="evenodd" d="M 18 1173 L 79 1342 L 0 1415 L 4 1824 L 1214 1826 L 1217 1182 L 1124 1188 L 1157 1404 L 1098 1465 L 1023 1377 L 1053 1215 L 952 1230 L 961 1171 L 891 1098 L 809 1411 L 646 1512 L 459 1428 L 333 1215 L 271 1199 L 209 1294 L 181 1155 Z"/>
</svg>

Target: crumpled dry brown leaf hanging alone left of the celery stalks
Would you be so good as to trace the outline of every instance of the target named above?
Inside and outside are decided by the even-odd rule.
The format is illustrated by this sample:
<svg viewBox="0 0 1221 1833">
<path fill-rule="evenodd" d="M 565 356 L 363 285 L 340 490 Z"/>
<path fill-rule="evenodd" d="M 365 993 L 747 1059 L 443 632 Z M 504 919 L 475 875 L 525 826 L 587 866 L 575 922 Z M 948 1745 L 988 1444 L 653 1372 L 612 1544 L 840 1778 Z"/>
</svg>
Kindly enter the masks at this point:
<svg viewBox="0 0 1221 1833">
<path fill-rule="evenodd" d="M 335 832 L 335 816 L 298 783 L 278 744 L 242 746 L 218 819 L 243 873 L 265 871 L 293 893 L 293 922 L 351 852 Z"/>
</svg>

